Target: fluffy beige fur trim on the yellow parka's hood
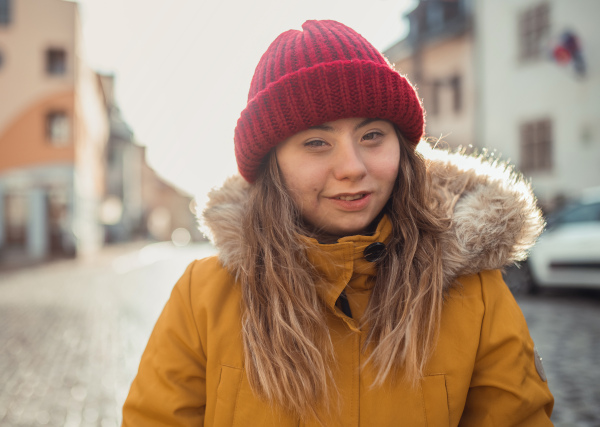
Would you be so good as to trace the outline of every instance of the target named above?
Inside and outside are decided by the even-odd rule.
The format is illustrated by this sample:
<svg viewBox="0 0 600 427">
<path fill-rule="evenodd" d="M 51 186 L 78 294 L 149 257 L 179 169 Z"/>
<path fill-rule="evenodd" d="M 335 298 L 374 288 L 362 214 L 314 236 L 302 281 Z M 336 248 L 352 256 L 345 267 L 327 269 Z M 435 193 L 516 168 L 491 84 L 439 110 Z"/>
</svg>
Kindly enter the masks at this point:
<svg viewBox="0 0 600 427">
<path fill-rule="evenodd" d="M 529 182 L 486 152 L 467 155 L 423 142 L 417 150 L 426 159 L 440 214 L 452 217 L 442 236 L 444 283 L 525 259 L 544 226 Z M 209 194 L 200 219 L 220 261 L 235 276 L 249 187 L 239 175 L 229 178 Z"/>
</svg>

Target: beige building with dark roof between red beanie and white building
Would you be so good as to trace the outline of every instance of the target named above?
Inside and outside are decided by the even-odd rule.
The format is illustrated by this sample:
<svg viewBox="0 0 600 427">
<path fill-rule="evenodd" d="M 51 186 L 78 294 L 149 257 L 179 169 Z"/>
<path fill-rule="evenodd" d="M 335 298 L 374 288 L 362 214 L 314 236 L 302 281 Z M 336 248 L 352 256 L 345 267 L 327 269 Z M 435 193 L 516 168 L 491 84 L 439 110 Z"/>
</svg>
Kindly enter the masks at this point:
<svg viewBox="0 0 600 427">
<path fill-rule="evenodd" d="M 408 36 L 384 54 L 417 86 L 427 136 L 456 147 L 474 144 L 472 2 L 421 1 L 405 15 Z"/>
</svg>

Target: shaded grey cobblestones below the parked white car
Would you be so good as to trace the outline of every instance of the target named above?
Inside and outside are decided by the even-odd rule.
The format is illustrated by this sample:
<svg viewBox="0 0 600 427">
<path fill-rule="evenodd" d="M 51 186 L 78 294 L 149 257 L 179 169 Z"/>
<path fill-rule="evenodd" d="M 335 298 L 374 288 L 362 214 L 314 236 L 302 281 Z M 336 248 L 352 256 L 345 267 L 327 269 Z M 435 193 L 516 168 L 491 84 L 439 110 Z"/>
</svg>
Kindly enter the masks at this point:
<svg viewBox="0 0 600 427">
<path fill-rule="evenodd" d="M 556 426 L 600 426 L 600 292 L 517 296 L 554 394 Z"/>
</svg>

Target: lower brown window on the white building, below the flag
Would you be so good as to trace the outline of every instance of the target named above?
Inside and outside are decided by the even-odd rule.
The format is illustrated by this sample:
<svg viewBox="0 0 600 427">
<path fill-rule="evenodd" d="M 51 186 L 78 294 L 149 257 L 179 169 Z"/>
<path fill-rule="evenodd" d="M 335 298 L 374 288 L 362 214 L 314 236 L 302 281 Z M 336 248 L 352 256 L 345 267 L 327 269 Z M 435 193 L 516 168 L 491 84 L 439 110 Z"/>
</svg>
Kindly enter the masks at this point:
<svg viewBox="0 0 600 427">
<path fill-rule="evenodd" d="M 549 119 L 521 125 L 521 170 L 541 172 L 552 169 L 552 122 Z"/>
</svg>

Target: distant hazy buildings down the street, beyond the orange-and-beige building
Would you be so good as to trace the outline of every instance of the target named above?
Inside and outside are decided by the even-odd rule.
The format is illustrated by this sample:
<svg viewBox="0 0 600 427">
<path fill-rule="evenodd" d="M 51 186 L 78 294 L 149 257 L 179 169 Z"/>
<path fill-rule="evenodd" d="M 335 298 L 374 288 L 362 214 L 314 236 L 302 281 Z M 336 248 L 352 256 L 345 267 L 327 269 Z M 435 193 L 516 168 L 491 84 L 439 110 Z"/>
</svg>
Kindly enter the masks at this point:
<svg viewBox="0 0 600 427">
<path fill-rule="evenodd" d="M 115 78 L 102 75 L 110 136 L 106 146 L 106 194 L 100 210 L 106 243 L 139 238 L 202 240 L 193 198 L 163 180 L 146 163 L 146 147 L 138 144 L 117 105 Z"/>
</svg>

